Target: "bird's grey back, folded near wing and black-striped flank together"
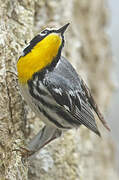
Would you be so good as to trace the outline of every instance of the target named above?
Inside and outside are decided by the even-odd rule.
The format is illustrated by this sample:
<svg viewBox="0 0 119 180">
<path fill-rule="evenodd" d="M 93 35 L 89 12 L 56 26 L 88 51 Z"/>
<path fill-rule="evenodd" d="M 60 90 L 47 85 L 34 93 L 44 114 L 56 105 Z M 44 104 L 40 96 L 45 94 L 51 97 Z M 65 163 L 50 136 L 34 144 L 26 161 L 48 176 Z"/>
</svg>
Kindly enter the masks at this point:
<svg viewBox="0 0 119 180">
<path fill-rule="evenodd" d="M 60 129 L 83 124 L 100 135 L 82 79 L 64 57 L 43 78 L 40 73 L 34 74 L 28 81 L 28 89 L 39 114 L 47 117 L 50 124 Z"/>
</svg>

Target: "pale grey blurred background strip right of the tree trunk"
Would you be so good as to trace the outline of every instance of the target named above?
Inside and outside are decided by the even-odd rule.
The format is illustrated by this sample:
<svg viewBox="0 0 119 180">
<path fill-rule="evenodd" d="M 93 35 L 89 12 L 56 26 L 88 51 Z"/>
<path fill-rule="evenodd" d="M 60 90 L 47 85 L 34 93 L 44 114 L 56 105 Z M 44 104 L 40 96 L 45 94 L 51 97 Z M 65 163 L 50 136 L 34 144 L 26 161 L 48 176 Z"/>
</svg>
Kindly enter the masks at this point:
<svg viewBox="0 0 119 180">
<path fill-rule="evenodd" d="M 114 56 L 114 71 L 112 74 L 115 83 L 115 92 L 108 109 L 108 119 L 112 129 L 112 138 L 117 148 L 117 164 L 119 170 L 119 1 L 109 0 L 111 22 L 109 24 L 109 36 Z"/>
</svg>

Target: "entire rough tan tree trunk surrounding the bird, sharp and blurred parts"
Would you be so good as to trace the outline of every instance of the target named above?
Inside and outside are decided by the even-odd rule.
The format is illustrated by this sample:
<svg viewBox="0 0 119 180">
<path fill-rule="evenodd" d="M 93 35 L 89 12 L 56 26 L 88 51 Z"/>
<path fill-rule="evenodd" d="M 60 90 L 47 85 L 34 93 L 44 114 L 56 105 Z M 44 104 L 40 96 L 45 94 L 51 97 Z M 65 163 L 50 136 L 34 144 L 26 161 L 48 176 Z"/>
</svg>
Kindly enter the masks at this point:
<svg viewBox="0 0 119 180">
<path fill-rule="evenodd" d="M 2 0 L 0 4 L 0 179 L 118 179 L 114 148 L 100 124 L 103 138 L 84 127 L 71 130 L 42 149 L 29 162 L 28 173 L 27 160 L 22 161 L 16 149 L 25 146 L 28 129 L 32 137 L 42 125 L 28 107 L 24 111 L 16 76 L 9 72 L 16 73 L 25 41 L 44 25 L 60 27 L 71 22 L 64 54 L 84 77 L 104 110 L 113 89 L 112 57 L 104 31 L 108 18 L 105 1 Z"/>
</svg>

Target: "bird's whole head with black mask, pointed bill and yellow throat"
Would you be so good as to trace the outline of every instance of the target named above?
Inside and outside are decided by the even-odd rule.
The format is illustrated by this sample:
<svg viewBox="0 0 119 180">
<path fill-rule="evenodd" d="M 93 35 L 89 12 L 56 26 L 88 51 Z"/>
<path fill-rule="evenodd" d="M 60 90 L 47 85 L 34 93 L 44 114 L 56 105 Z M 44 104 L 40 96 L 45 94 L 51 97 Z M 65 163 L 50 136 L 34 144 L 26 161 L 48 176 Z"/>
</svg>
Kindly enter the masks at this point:
<svg viewBox="0 0 119 180">
<path fill-rule="evenodd" d="M 45 29 L 35 36 L 23 50 L 17 63 L 19 80 L 26 83 L 33 74 L 49 66 L 61 55 L 64 32 L 69 23 L 59 29 Z"/>
</svg>

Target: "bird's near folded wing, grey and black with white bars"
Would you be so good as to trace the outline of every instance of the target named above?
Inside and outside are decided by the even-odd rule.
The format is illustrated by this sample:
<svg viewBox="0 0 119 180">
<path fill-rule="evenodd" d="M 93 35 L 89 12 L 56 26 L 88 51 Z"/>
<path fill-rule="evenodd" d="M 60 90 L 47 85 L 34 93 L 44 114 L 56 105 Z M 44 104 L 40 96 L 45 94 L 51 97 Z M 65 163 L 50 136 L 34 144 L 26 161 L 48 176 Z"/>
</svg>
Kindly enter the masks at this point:
<svg viewBox="0 0 119 180">
<path fill-rule="evenodd" d="M 60 113 L 70 114 L 73 123 L 83 124 L 100 136 L 90 106 L 81 98 L 80 91 L 72 86 L 69 79 L 54 72 L 46 78 L 45 86 L 55 101 L 63 107 Z"/>
</svg>

